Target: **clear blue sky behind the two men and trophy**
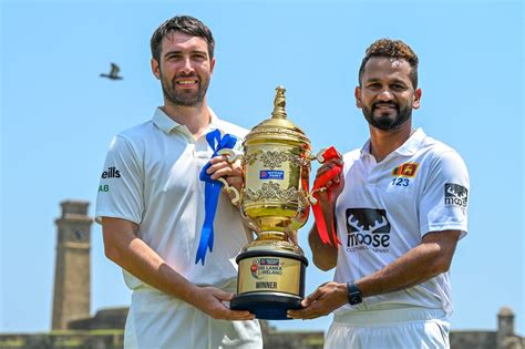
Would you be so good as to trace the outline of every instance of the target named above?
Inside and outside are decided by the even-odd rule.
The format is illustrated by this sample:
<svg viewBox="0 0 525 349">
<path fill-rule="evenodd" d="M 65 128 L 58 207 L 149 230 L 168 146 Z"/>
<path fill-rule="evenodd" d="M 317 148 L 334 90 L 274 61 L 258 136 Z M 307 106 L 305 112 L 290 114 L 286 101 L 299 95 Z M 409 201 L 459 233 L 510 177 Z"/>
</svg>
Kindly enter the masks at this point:
<svg viewBox="0 0 525 349">
<path fill-rule="evenodd" d="M 523 1 L 1 1 L 0 332 L 50 329 L 59 203 L 94 204 L 114 134 L 162 104 L 148 41 L 174 14 L 213 30 L 208 102 L 251 129 L 287 89 L 315 150 L 368 138 L 353 89 L 364 50 L 388 37 L 420 58 L 414 126 L 456 148 L 471 175 L 470 234 L 452 265 L 453 329 L 494 329 L 503 306 L 525 333 Z M 123 81 L 99 78 L 110 62 Z M 313 167 L 316 170 L 317 166 Z M 94 213 L 93 205 L 90 214 Z M 311 260 L 307 232 L 300 244 Z M 332 273 L 310 266 L 307 290 Z M 120 269 L 92 228 L 92 311 L 127 305 Z M 330 317 L 274 321 L 327 329 Z"/>
</svg>

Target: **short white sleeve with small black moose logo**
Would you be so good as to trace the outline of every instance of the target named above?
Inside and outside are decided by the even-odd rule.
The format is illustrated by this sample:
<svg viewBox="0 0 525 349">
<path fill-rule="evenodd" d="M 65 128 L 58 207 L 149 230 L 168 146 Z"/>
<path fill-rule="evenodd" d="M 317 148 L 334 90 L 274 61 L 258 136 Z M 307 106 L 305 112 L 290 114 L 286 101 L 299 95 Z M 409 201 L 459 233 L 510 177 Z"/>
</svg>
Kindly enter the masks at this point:
<svg viewBox="0 0 525 349">
<path fill-rule="evenodd" d="M 429 167 L 428 182 L 420 202 L 420 232 L 467 232 L 470 194 L 469 173 L 465 163 L 454 151 L 439 155 Z"/>
</svg>

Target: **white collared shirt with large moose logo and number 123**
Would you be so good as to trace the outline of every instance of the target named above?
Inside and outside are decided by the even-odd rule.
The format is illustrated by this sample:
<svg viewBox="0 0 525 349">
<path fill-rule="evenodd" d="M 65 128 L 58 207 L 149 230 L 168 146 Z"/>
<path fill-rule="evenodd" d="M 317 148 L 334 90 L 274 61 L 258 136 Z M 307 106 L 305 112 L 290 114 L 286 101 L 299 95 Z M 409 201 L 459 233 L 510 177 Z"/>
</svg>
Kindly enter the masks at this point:
<svg viewBox="0 0 525 349">
<path fill-rule="evenodd" d="M 380 163 L 370 141 L 344 154 L 344 188 L 336 204 L 339 248 L 334 279 L 346 283 L 391 264 L 430 232 L 467 230 L 466 166 L 447 145 L 416 130 Z M 341 311 L 377 305 L 441 308 L 450 316 L 449 273 L 405 290 L 367 297 Z"/>
</svg>

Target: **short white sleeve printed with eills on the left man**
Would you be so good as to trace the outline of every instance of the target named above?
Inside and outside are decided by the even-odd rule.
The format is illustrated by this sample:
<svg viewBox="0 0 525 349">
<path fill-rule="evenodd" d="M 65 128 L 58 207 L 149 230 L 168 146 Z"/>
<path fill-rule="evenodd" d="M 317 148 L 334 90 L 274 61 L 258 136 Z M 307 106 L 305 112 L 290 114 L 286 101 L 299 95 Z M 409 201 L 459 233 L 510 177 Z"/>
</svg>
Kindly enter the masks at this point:
<svg viewBox="0 0 525 349">
<path fill-rule="evenodd" d="M 113 217 L 141 224 L 144 213 L 141 157 L 128 140 L 115 136 L 110 145 L 96 196 L 95 220 Z"/>
</svg>

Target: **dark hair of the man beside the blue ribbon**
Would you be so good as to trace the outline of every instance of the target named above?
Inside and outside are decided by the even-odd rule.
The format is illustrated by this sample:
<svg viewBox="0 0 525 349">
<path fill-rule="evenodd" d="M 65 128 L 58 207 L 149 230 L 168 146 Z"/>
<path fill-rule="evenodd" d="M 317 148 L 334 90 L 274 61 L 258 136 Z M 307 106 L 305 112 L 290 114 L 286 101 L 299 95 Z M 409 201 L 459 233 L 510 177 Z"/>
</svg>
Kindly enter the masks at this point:
<svg viewBox="0 0 525 349">
<path fill-rule="evenodd" d="M 206 40 L 208 43 L 209 59 L 214 58 L 215 40 L 209 28 L 194 17 L 176 16 L 162 23 L 153 33 L 150 45 L 152 48 L 152 57 L 154 60 L 161 62 L 162 40 L 166 35 L 177 31 Z"/>
</svg>

